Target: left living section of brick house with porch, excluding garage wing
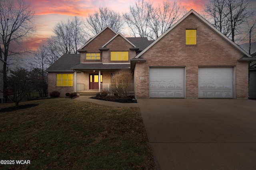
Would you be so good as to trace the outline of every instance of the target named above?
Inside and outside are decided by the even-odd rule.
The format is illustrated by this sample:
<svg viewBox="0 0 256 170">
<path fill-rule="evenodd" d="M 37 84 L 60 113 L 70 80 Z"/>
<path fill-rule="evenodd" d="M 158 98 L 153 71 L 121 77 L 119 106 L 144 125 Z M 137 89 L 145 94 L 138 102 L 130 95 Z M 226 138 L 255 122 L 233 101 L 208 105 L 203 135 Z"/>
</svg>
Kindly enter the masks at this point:
<svg viewBox="0 0 256 170">
<path fill-rule="evenodd" d="M 106 27 L 78 50 L 80 54 L 64 54 L 46 69 L 48 93 L 58 90 L 65 96 L 67 92 L 109 91 L 114 72 L 130 69 L 130 59 L 152 42 L 147 38 L 126 38 Z M 133 82 L 130 89 L 134 91 Z"/>
</svg>

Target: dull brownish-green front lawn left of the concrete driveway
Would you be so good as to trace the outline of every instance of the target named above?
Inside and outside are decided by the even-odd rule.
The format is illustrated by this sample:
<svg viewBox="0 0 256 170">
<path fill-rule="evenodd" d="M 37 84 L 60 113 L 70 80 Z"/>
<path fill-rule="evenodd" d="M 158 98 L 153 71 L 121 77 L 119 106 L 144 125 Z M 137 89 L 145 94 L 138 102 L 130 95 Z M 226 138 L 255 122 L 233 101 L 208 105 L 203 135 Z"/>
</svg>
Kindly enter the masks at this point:
<svg viewBox="0 0 256 170">
<path fill-rule="evenodd" d="M 156 169 L 139 108 L 58 98 L 0 113 L 0 169 Z M 14 104 L 0 104 L 0 109 Z"/>
</svg>

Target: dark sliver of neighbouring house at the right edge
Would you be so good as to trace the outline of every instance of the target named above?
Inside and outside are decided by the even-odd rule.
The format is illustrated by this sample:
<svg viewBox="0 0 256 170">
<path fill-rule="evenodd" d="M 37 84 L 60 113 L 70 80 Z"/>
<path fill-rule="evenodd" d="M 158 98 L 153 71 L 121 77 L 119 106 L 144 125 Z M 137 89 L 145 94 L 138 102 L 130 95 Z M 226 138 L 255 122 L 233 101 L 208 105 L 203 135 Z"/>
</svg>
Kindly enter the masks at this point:
<svg viewBox="0 0 256 170">
<path fill-rule="evenodd" d="M 256 58 L 256 53 L 252 54 Z M 256 99 L 256 61 L 250 63 L 249 98 Z"/>
</svg>

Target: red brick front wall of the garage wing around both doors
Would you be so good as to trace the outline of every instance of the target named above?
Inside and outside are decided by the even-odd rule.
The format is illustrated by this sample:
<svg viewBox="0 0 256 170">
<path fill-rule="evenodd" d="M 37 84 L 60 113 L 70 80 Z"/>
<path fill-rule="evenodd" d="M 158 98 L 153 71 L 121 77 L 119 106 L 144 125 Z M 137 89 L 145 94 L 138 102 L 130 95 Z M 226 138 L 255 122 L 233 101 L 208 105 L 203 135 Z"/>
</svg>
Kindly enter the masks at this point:
<svg viewBox="0 0 256 170">
<path fill-rule="evenodd" d="M 197 29 L 196 46 L 186 46 L 186 29 Z M 198 98 L 198 66 L 235 66 L 236 98 L 248 98 L 248 63 L 237 61 L 242 56 L 233 45 L 191 14 L 141 56 L 147 59 L 145 63 L 136 63 L 136 96 L 149 98 L 150 66 L 186 67 L 186 98 Z"/>
</svg>

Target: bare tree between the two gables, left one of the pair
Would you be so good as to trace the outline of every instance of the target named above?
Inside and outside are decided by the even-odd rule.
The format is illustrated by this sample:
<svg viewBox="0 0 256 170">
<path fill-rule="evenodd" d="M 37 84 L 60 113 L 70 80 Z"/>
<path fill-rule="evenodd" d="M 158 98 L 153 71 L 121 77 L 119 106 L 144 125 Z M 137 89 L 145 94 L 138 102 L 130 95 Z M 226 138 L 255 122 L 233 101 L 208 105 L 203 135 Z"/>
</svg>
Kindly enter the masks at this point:
<svg viewBox="0 0 256 170">
<path fill-rule="evenodd" d="M 135 2 L 135 7 L 129 7 L 130 12 L 124 13 L 125 22 L 132 30 L 134 37 L 148 37 L 150 13 L 153 12 L 152 2 L 144 0 Z"/>
</svg>

